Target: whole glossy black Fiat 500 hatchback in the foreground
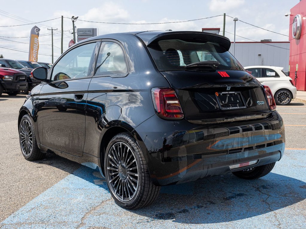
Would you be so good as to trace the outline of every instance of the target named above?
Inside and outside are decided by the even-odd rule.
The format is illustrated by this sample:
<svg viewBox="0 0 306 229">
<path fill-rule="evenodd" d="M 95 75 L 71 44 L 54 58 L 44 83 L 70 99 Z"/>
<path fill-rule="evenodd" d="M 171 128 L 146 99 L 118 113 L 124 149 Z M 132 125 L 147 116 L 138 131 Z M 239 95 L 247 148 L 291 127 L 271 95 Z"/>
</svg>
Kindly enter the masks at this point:
<svg viewBox="0 0 306 229">
<path fill-rule="evenodd" d="M 284 124 L 269 87 L 243 69 L 230 44 L 186 31 L 78 42 L 48 72 L 32 71 L 43 83 L 20 109 L 24 158 L 54 152 L 99 169 L 127 209 L 151 204 L 162 185 L 265 176 L 284 153 Z"/>
</svg>

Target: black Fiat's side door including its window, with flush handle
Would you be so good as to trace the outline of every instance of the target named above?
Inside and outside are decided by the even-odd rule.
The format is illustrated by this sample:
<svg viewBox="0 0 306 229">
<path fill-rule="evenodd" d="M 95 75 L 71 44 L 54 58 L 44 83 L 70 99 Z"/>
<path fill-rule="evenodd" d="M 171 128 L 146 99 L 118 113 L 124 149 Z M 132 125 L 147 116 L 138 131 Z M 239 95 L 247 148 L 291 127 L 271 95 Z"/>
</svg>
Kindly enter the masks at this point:
<svg viewBox="0 0 306 229">
<path fill-rule="evenodd" d="M 75 156 L 83 155 L 86 99 L 99 41 L 69 50 L 48 72 L 50 83 L 39 95 L 40 144 Z"/>
</svg>

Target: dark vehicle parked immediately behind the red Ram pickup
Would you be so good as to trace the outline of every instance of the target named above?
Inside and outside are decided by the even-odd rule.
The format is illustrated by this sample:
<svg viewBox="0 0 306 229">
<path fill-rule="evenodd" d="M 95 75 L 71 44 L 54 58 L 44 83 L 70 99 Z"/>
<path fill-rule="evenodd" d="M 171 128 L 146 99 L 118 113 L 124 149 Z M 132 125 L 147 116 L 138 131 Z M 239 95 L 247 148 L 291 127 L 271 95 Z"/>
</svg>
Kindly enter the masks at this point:
<svg viewBox="0 0 306 229">
<path fill-rule="evenodd" d="M 11 59 L 0 59 L 0 67 L 7 67 L 7 68 L 13 68 L 20 70 L 24 72 L 27 75 L 27 82 L 28 82 L 28 87 L 25 88 L 24 90 L 20 90 L 20 94 L 28 94 L 29 91 L 34 88 L 36 85 L 40 84 L 40 81 L 33 79 L 33 77 L 30 75 L 31 70 L 23 66 L 21 63 L 19 63 L 16 60 L 11 60 Z"/>
</svg>

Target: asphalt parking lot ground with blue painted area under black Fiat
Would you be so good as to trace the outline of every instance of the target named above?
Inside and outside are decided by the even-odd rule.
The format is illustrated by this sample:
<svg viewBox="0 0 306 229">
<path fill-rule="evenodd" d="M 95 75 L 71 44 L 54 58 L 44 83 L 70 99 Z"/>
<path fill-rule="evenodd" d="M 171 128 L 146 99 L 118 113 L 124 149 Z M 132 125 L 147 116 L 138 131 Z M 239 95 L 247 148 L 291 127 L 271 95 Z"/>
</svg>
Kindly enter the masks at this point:
<svg viewBox="0 0 306 229">
<path fill-rule="evenodd" d="M 25 96 L 0 97 L 0 228 L 306 228 L 306 105 L 278 106 L 285 155 L 254 181 L 232 174 L 162 187 L 144 209 L 114 204 L 98 171 L 48 154 L 26 161 L 18 143 Z"/>
</svg>

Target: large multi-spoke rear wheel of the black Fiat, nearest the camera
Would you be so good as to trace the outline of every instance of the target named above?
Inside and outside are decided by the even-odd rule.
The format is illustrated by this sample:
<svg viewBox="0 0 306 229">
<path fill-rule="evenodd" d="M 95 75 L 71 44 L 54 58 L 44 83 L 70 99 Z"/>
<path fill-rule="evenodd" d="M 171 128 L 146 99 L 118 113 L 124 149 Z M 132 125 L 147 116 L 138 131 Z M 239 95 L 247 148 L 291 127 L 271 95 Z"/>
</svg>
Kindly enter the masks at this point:
<svg viewBox="0 0 306 229">
<path fill-rule="evenodd" d="M 143 152 L 128 132 L 115 135 L 109 142 L 104 172 L 110 194 L 123 208 L 147 206 L 159 193 L 160 187 L 152 183 Z"/>
</svg>

